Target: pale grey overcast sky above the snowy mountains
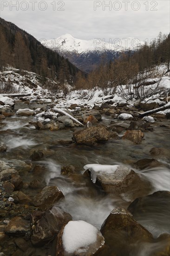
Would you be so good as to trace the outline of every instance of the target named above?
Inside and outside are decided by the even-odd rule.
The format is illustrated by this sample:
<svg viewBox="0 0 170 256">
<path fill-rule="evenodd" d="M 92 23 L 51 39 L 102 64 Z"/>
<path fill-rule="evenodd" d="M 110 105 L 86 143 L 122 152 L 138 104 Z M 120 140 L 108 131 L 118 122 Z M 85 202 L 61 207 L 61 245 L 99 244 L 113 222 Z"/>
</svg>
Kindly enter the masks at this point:
<svg viewBox="0 0 170 256">
<path fill-rule="evenodd" d="M 128 37 L 145 40 L 157 37 L 160 31 L 170 33 L 169 0 L 0 2 L 0 16 L 38 40 L 49 40 L 67 33 L 84 40 Z M 106 7 L 109 2 L 110 7 Z"/>
</svg>

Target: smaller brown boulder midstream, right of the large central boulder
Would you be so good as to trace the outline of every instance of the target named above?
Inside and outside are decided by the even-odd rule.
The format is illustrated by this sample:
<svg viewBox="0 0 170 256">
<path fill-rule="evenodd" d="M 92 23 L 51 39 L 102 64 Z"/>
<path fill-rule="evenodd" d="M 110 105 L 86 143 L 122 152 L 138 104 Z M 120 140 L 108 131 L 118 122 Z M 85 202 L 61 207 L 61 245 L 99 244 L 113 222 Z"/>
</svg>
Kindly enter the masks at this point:
<svg viewBox="0 0 170 256">
<path fill-rule="evenodd" d="M 140 144 L 143 138 L 144 134 L 141 130 L 127 130 L 122 137 L 122 139 L 132 141 L 134 144 Z"/>
</svg>

